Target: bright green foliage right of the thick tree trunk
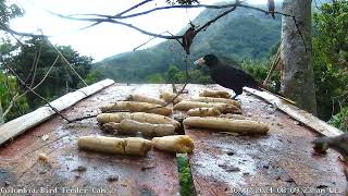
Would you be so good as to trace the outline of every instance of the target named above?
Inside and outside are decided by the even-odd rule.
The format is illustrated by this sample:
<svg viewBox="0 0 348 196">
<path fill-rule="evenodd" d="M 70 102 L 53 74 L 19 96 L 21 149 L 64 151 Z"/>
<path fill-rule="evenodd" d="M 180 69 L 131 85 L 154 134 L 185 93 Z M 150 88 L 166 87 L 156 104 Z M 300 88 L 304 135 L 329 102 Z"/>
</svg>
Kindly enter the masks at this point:
<svg viewBox="0 0 348 196">
<path fill-rule="evenodd" d="M 313 19 L 318 113 L 328 120 L 348 106 L 348 2 L 324 3 Z"/>
</svg>

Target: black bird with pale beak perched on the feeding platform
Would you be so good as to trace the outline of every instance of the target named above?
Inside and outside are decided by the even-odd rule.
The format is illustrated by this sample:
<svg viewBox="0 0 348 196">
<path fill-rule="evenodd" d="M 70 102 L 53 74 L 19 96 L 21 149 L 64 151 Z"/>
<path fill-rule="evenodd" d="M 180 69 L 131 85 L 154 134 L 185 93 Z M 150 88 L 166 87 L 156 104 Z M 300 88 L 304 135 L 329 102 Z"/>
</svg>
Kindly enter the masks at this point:
<svg viewBox="0 0 348 196">
<path fill-rule="evenodd" d="M 235 99 L 243 94 L 243 87 L 250 87 L 262 90 L 263 85 L 254 81 L 251 75 L 246 72 L 235 69 L 231 65 L 224 64 L 214 54 L 208 54 L 195 61 L 198 65 L 208 65 L 211 78 L 223 87 L 233 89 L 235 91 Z"/>
</svg>

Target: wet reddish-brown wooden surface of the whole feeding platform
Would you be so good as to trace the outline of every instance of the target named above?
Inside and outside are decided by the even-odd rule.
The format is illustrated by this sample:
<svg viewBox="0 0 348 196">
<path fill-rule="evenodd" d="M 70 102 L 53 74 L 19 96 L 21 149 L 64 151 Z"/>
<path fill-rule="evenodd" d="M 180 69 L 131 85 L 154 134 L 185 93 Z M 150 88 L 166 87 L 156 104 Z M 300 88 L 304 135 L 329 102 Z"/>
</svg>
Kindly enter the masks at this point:
<svg viewBox="0 0 348 196">
<path fill-rule="evenodd" d="M 183 97 L 198 97 L 203 88 L 221 89 L 188 85 Z M 115 84 L 63 114 L 70 119 L 94 115 L 100 112 L 98 107 L 130 94 L 159 97 L 163 90 L 171 91 L 171 85 Z M 338 154 L 313 156 L 310 142 L 314 133 L 252 96 L 243 94 L 239 99 L 243 118 L 268 123 L 270 133 L 240 136 L 186 130 L 195 140 L 189 159 L 199 195 L 319 195 L 318 191 L 341 195 L 338 192 L 346 182 Z M 90 134 L 102 135 L 96 118 L 67 124 L 53 117 L 7 143 L 0 147 L 0 187 L 47 194 L 177 195 L 175 155 L 150 150 L 145 158 L 137 158 L 79 151 L 77 138 Z M 47 160 L 38 160 L 40 154 Z"/>
</svg>

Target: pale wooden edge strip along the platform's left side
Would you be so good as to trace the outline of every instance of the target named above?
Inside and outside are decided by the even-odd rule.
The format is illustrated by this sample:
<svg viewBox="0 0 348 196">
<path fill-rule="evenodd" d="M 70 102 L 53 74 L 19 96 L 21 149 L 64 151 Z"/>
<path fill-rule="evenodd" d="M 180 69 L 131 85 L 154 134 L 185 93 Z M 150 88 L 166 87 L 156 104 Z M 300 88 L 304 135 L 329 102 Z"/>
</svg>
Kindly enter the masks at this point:
<svg viewBox="0 0 348 196">
<path fill-rule="evenodd" d="M 50 102 L 50 105 L 59 111 L 62 111 L 66 108 L 70 108 L 79 100 L 90 95 L 94 95 L 102 88 L 112 85 L 113 83 L 114 82 L 112 79 L 101 81 L 99 83 L 96 83 L 88 87 L 84 87 L 74 93 L 66 94 L 63 97 L 53 100 L 52 102 Z M 5 124 L 2 124 L 0 126 L 0 146 L 10 138 L 13 138 L 16 135 L 24 133 L 25 131 L 27 131 L 30 127 L 34 127 L 37 124 L 40 124 L 41 122 L 48 120 L 54 114 L 55 112 L 50 107 L 44 106 L 30 113 L 27 113 Z"/>
</svg>

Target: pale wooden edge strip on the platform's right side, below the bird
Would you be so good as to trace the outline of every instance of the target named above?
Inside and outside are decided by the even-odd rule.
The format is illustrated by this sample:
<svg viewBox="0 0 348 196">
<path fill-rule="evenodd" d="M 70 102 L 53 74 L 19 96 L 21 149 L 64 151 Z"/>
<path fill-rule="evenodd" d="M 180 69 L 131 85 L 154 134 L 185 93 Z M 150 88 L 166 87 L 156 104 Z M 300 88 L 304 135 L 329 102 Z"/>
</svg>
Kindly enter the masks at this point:
<svg viewBox="0 0 348 196">
<path fill-rule="evenodd" d="M 285 112 L 293 119 L 301 122 L 306 126 L 310 127 L 312 131 L 321 135 L 325 135 L 328 137 L 337 136 L 343 134 L 343 131 L 327 124 L 326 122 L 318 119 L 313 114 L 297 108 L 294 105 L 286 102 L 285 100 L 268 93 L 268 91 L 259 91 L 251 88 L 244 88 L 247 93 L 250 93 L 258 98 L 261 98 L 271 105 L 275 105 L 281 111 Z"/>
</svg>

